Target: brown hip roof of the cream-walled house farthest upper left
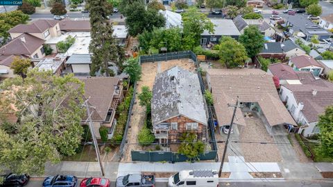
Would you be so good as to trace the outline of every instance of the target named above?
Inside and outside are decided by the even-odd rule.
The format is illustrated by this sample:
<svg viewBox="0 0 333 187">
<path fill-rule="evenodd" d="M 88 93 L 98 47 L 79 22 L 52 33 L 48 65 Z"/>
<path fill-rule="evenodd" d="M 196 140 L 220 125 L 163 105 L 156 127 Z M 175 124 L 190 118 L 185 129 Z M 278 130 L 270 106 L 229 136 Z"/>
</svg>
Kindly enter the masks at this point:
<svg viewBox="0 0 333 187">
<path fill-rule="evenodd" d="M 43 33 L 57 23 L 58 21 L 53 19 L 37 19 L 30 24 L 19 24 L 10 29 L 8 33 Z"/>
</svg>

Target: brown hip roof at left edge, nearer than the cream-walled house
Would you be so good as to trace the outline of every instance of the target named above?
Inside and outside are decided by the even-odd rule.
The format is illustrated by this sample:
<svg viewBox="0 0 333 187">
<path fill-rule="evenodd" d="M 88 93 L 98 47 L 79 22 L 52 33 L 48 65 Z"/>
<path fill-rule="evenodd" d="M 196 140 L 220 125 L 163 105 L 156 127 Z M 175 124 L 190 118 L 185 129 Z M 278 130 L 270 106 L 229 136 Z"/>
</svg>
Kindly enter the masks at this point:
<svg viewBox="0 0 333 187">
<path fill-rule="evenodd" d="M 0 48 L 0 54 L 30 56 L 44 44 L 44 40 L 28 33 L 23 33 Z"/>
</svg>

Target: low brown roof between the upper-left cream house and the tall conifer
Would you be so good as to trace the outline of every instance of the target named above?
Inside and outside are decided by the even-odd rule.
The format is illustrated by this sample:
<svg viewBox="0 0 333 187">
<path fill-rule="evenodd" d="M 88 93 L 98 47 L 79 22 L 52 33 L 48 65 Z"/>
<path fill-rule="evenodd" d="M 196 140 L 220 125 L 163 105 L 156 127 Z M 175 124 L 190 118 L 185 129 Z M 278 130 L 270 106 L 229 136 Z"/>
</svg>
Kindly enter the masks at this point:
<svg viewBox="0 0 333 187">
<path fill-rule="evenodd" d="M 62 19 L 59 22 L 60 30 L 61 31 L 90 31 L 90 22 L 89 20 L 71 20 L 71 19 Z"/>
</svg>

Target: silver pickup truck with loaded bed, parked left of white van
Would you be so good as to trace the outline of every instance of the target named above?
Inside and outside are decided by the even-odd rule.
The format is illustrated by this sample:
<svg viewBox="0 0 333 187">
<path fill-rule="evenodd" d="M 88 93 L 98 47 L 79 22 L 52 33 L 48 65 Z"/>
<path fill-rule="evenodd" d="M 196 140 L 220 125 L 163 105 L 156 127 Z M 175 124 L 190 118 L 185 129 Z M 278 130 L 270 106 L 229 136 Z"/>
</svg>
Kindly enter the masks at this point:
<svg viewBox="0 0 333 187">
<path fill-rule="evenodd" d="M 127 174 L 116 179 L 116 187 L 137 186 L 154 187 L 155 175 Z"/>
</svg>

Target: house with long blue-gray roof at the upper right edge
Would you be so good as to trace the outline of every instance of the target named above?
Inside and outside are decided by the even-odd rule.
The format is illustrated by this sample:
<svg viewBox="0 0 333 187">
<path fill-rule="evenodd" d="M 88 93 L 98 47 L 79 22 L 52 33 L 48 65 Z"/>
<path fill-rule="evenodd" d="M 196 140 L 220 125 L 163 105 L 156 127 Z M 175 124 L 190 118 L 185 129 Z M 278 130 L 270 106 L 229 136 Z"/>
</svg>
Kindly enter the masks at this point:
<svg viewBox="0 0 333 187">
<path fill-rule="evenodd" d="M 286 26 L 289 26 L 290 35 L 298 35 L 307 41 L 311 40 L 313 35 L 318 35 L 318 40 L 329 39 L 332 35 L 330 31 L 323 29 L 302 15 L 289 16 Z"/>
</svg>

